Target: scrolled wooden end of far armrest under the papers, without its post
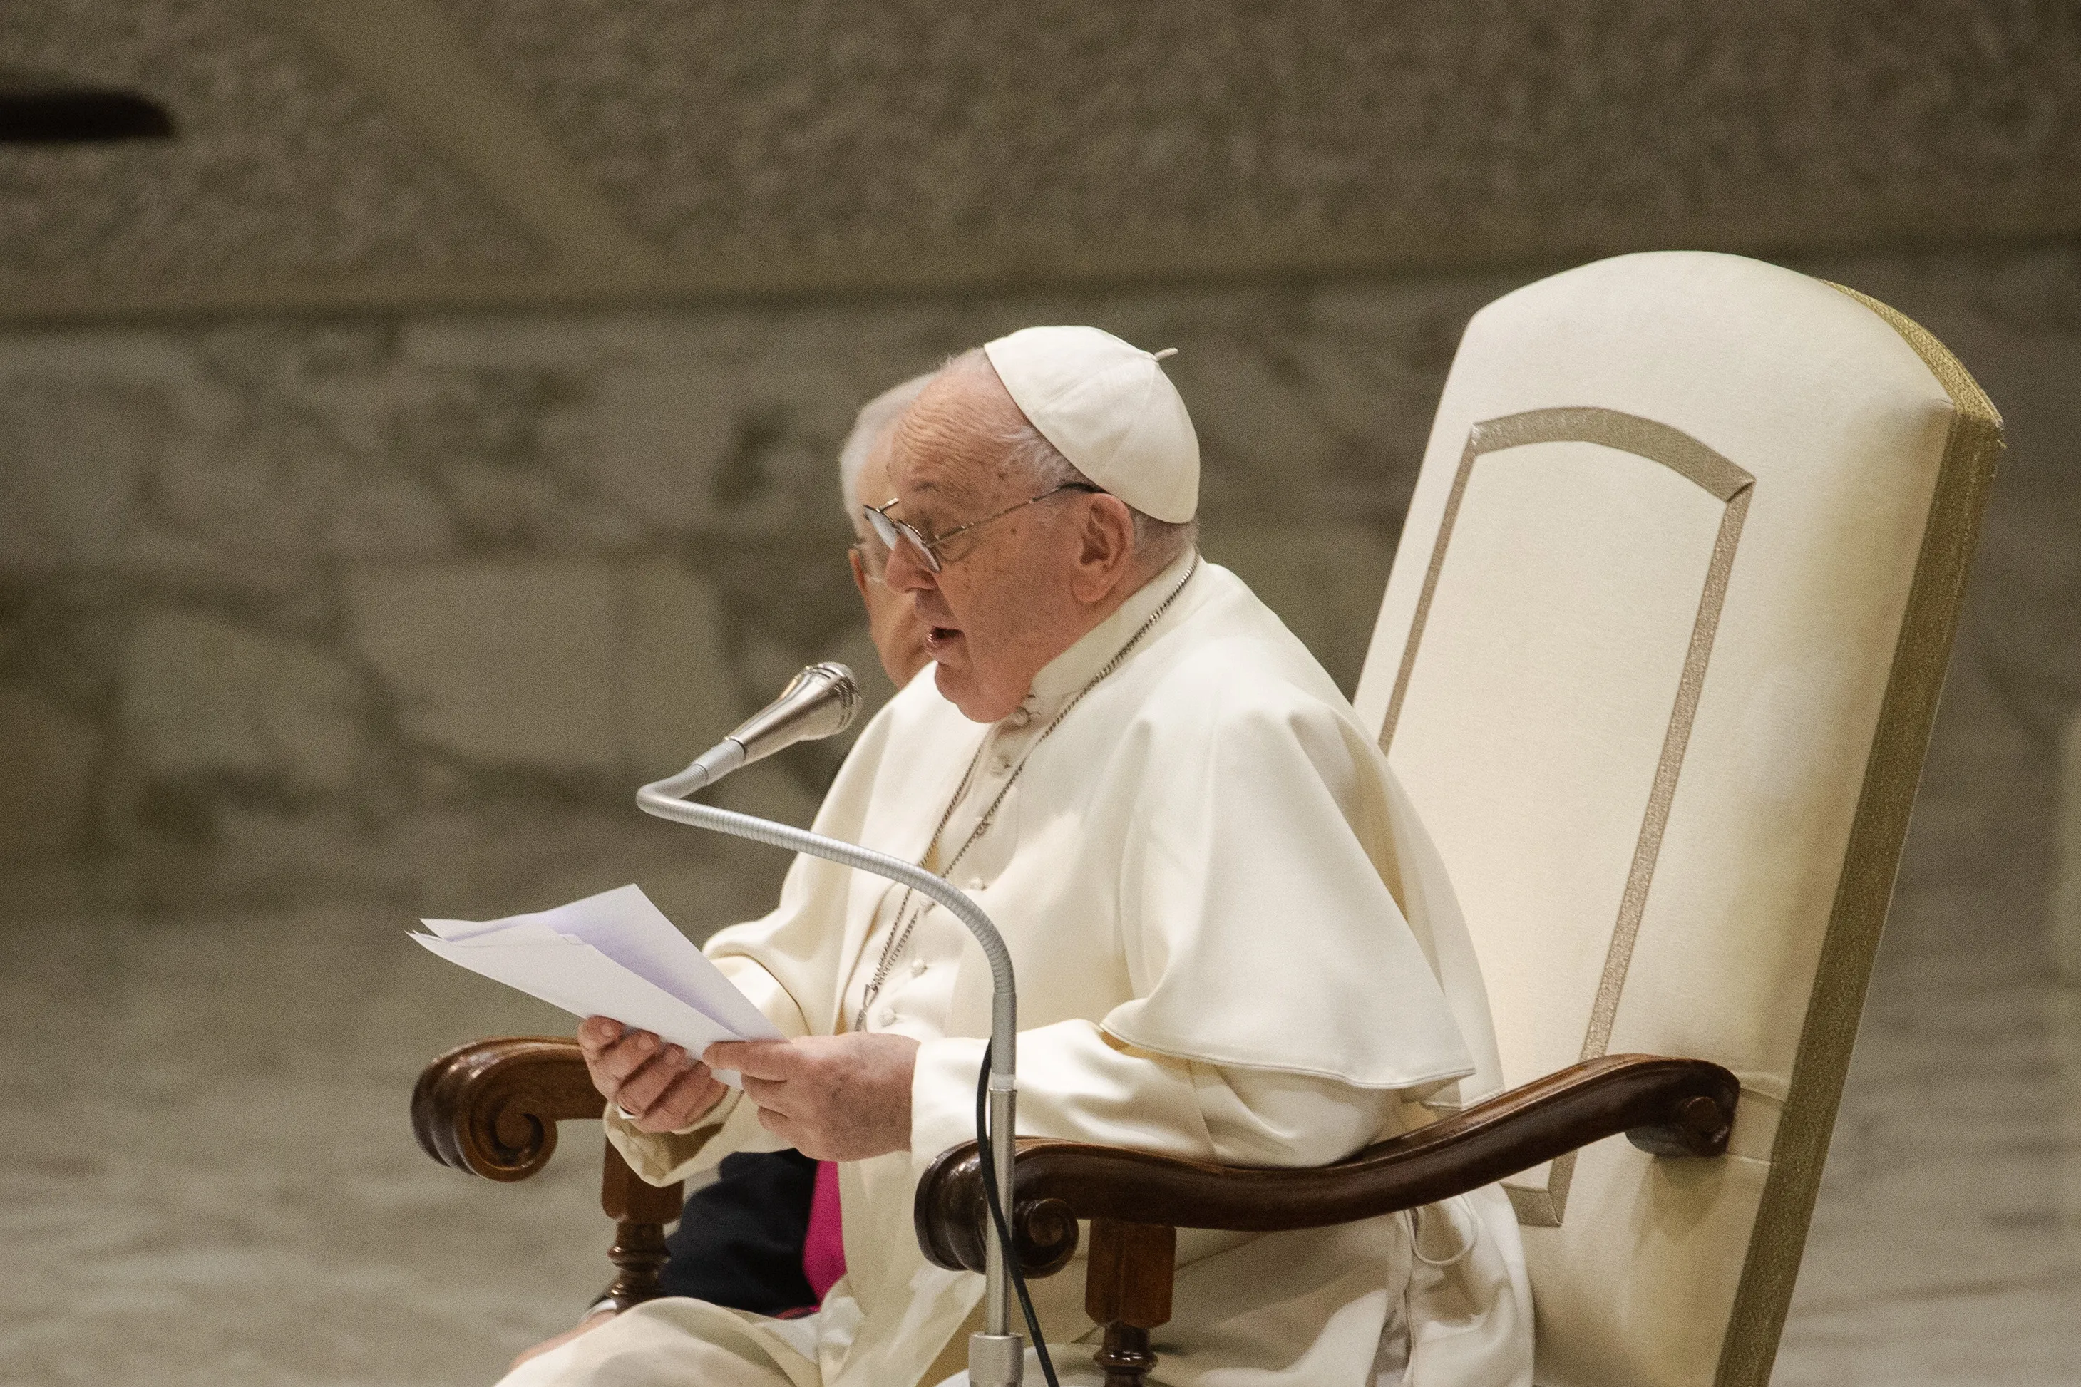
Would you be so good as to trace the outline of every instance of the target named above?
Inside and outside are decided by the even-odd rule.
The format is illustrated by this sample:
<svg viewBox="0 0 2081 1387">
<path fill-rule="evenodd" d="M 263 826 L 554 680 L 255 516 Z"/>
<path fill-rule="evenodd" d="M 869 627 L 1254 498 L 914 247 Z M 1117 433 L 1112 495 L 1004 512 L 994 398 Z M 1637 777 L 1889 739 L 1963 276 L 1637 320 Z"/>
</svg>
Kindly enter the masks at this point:
<svg viewBox="0 0 2081 1387">
<path fill-rule="evenodd" d="M 412 1135 L 441 1164 L 485 1179 L 526 1179 L 549 1164 L 558 1123 L 597 1119 L 603 1108 L 576 1040 L 472 1040 L 420 1071 Z"/>
</svg>

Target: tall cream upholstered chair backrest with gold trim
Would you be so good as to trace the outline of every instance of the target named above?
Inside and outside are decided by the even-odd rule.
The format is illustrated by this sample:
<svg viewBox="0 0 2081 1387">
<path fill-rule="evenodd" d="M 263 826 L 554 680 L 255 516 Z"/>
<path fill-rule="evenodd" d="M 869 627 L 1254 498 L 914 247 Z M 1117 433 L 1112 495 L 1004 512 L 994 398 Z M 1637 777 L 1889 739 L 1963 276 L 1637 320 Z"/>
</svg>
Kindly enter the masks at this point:
<svg viewBox="0 0 2081 1387">
<path fill-rule="evenodd" d="M 1357 705 L 1453 873 L 1505 1079 L 1742 1077 L 1725 1160 L 1507 1181 L 1540 1387 L 1763 1387 L 2000 418 L 1890 308 L 1738 256 L 1475 314 Z"/>
</svg>

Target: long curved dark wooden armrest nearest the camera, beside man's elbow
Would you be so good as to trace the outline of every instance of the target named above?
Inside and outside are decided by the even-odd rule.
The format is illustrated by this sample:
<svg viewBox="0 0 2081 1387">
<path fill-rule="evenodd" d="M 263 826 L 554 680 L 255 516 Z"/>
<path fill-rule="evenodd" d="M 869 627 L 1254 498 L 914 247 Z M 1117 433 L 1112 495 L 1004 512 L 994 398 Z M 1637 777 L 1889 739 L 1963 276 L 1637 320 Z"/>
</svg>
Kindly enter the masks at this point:
<svg viewBox="0 0 2081 1387">
<path fill-rule="evenodd" d="M 1625 1133 L 1656 1156 L 1727 1150 L 1740 1083 L 1706 1061 L 1607 1054 L 1317 1169 L 1224 1167 L 1117 1146 L 1022 1137 L 1011 1227 L 1020 1266 L 1045 1277 L 1076 1252 L 1076 1221 L 1276 1233 L 1373 1219 L 1480 1189 Z M 918 1244 L 949 1271 L 982 1271 L 976 1144 L 918 1181 Z"/>
</svg>

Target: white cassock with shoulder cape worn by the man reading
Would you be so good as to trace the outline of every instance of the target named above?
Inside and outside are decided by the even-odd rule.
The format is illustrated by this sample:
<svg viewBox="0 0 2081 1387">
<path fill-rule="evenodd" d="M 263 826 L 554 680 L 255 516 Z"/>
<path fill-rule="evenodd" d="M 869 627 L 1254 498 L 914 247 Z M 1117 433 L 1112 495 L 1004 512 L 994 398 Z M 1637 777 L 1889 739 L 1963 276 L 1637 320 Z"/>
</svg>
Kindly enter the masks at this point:
<svg viewBox="0 0 2081 1387">
<path fill-rule="evenodd" d="M 964 719 L 920 674 L 868 724 L 816 828 L 920 861 L 947 815 L 928 865 L 949 871 L 1009 780 L 951 880 L 1018 965 L 1020 1133 L 1326 1164 L 1492 1090 L 1488 1002 L 1442 863 L 1373 740 L 1234 574 L 1201 564 L 1180 588 L 1190 561 L 1049 663 L 1005 722 Z M 920 1042 L 911 1150 L 839 1169 L 847 1275 L 822 1310 L 658 1300 L 512 1387 L 899 1387 L 961 1368 L 982 1277 L 924 1260 L 911 1194 L 976 1135 L 991 971 L 936 907 L 891 952 L 899 907 L 922 905 L 801 857 L 772 915 L 708 942 L 789 1036 L 851 1029 L 887 957 L 866 1029 Z M 608 1133 L 656 1183 L 776 1144 L 735 1090 L 689 1133 L 647 1135 L 612 1108 Z M 1082 1285 L 1080 1256 L 1032 1291 L 1063 1381 L 1088 1383 Z M 1176 1387 L 1532 1381 L 1523 1254 L 1496 1187 L 1336 1229 L 1180 1229 L 1174 1308 L 1153 1339 L 1155 1381 Z"/>
</svg>

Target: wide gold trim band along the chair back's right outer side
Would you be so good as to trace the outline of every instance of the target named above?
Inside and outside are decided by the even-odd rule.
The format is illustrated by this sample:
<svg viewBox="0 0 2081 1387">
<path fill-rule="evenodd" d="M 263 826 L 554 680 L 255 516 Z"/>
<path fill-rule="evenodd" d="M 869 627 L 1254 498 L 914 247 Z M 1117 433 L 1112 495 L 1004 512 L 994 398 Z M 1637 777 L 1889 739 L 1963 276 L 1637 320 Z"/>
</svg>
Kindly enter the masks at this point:
<svg viewBox="0 0 2081 1387">
<path fill-rule="evenodd" d="M 1844 285 L 1831 287 L 1900 333 L 1950 395 L 1954 416 L 1929 497 L 1929 522 L 1915 559 L 1856 817 L 1850 821 L 1842 880 L 1821 940 L 1800 1048 L 1792 1058 L 1785 1110 L 1771 1148 L 1771 1175 L 1748 1239 L 1748 1258 L 1742 1262 L 1727 1337 L 1721 1341 L 1717 1387 L 1765 1387 L 1777 1360 L 1777 1339 L 1806 1248 L 1806 1225 L 1821 1189 L 1821 1162 L 1835 1129 L 1856 1021 L 1865 1011 L 1871 959 L 1894 896 L 1908 811 L 1915 807 L 1915 786 L 1921 782 L 1923 753 L 1929 749 L 1929 728 L 1964 605 L 1964 580 L 2002 455 L 2002 416 L 1944 343 L 1885 304 Z"/>
</svg>

